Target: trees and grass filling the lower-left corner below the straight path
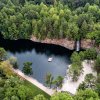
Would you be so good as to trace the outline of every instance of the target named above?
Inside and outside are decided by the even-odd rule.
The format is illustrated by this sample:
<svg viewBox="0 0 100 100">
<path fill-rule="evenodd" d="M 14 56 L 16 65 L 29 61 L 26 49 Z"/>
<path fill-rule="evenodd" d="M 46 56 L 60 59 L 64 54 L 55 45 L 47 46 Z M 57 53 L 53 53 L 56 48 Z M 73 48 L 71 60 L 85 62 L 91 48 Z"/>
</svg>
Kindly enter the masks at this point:
<svg viewBox="0 0 100 100">
<path fill-rule="evenodd" d="M 0 100 L 46 100 L 45 97 L 50 98 L 45 92 L 14 73 L 9 60 L 0 62 Z"/>
</svg>

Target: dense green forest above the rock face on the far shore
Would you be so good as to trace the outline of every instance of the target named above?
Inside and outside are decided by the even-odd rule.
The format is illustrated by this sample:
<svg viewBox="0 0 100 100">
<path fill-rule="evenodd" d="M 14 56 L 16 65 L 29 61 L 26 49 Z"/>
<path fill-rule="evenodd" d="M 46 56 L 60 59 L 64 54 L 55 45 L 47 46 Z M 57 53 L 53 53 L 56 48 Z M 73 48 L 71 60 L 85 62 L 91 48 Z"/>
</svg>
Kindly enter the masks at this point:
<svg viewBox="0 0 100 100">
<path fill-rule="evenodd" d="M 91 39 L 100 43 L 99 0 L 0 0 L 6 39 Z"/>
</svg>

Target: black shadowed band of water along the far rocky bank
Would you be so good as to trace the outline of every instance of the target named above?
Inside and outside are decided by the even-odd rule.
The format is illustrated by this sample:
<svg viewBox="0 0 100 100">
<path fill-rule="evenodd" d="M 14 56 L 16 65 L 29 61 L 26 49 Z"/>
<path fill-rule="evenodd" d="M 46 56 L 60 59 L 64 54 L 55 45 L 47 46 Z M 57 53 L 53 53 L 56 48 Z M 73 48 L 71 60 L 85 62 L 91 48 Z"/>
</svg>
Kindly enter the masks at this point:
<svg viewBox="0 0 100 100">
<path fill-rule="evenodd" d="M 12 53 L 22 53 L 26 51 L 32 51 L 34 49 L 36 53 L 41 53 L 49 56 L 50 54 L 54 55 L 66 55 L 70 56 L 72 54 L 72 50 L 66 49 L 64 47 L 53 45 L 53 44 L 45 44 L 33 42 L 31 40 L 19 39 L 19 40 L 9 40 L 9 39 L 0 39 L 0 47 L 3 47 L 6 51 L 10 51 Z M 48 52 L 49 51 L 49 52 Z"/>
</svg>

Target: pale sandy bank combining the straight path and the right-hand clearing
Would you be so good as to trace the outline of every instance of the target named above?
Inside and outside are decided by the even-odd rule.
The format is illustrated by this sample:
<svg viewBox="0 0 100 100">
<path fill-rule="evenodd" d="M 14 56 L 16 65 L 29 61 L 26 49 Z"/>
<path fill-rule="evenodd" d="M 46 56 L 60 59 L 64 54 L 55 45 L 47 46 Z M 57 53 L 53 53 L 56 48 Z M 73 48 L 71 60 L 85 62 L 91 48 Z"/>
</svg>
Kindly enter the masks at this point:
<svg viewBox="0 0 100 100">
<path fill-rule="evenodd" d="M 83 65 L 83 73 L 79 76 L 79 79 L 78 81 L 76 82 L 73 82 L 71 80 L 71 77 L 67 74 L 68 71 L 66 71 L 66 75 L 67 75 L 67 78 L 64 78 L 64 82 L 62 84 L 62 88 L 61 89 L 58 89 L 57 91 L 58 92 L 62 92 L 62 91 L 65 91 L 65 92 L 69 92 L 70 94 L 72 95 L 75 95 L 76 92 L 77 92 L 77 89 L 80 85 L 80 83 L 82 83 L 84 81 L 84 78 L 87 74 L 90 74 L 92 73 L 94 76 L 97 76 L 97 72 L 94 71 L 94 69 L 92 68 L 93 63 L 87 63 L 87 61 L 83 61 L 82 62 L 82 65 Z M 70 67 L 70 65 L 69 65 Z M 22 78 L 24 78 L 25 80 L 31 82 L 32 84 L 34 84 L 35 86 L 37 86 L 38 88 L 40 88 L 41 90 L 43 90 L 44 92 L 46 92 L 47 94 L 49 94 L 50 96 L 53 95 L 56 90 L 54 90 L 53 88 L 48 88 L 46 86 L 44 86 L 42 83 L 38 82 L 36 79 L 34 79 L 33 77 L 29 77 L 27 75 L 25 75 L 23 72 L 21 72 L 19 69 L 15 70 L 13 69 L 13 71 L 21 76 Z"/>
</svg>

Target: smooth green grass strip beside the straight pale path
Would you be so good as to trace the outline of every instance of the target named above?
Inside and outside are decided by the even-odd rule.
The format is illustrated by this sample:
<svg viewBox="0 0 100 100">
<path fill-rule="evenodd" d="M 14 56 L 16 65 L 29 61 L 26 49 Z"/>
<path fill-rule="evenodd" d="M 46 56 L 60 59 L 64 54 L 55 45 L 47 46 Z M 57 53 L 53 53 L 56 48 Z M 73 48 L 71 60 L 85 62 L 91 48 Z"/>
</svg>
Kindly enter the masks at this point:
<svg viewBox="0 0 100 100">
<path fill-rule="evenodd" d="M 35 85 L 33 85 L 32 83 L 28 82 L 28 81 L 24 81 L 25 86 L 27 86 L 28 88 L 30 88 L 33 92 L 33 96 L 36 96 L 38 94 L 42 94 L 44 95 L 47 99 L 50 99 L 50 96 L 45 93 L 44 91 L 42 91 L 41 89 L 39 89 L 38 87 L 36 87 Z"/>
</svg>

